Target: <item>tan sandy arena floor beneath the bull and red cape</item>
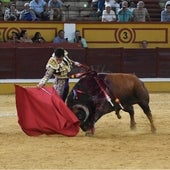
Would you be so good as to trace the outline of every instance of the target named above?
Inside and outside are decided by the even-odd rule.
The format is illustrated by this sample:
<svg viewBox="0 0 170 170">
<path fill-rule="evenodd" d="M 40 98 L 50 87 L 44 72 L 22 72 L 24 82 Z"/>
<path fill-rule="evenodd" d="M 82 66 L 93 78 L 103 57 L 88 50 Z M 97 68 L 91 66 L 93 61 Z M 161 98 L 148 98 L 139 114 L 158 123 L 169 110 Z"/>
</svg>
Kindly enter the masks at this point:
<svg viewBox="0 0 170 170">
<path fill-rule="evenodd" d="M 0 95 L 0 169 L 170 169 L 170 94 L 150 94 L 157 133 L 135 106 L 137 129 L 129 115 L 102 117 L 93 137 L 29 137 L 17 123 L 15 96 Z"/>
</svg>

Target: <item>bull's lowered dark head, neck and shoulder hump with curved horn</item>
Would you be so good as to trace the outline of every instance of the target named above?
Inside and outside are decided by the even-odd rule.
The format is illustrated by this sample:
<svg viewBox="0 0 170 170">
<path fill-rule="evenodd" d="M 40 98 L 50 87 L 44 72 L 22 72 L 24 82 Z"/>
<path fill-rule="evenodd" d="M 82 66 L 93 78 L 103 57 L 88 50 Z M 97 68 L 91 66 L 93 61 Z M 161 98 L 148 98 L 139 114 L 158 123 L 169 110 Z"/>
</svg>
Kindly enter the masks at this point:
<svg viewBox="0 0 170 170">
<path fill-rule="evenodd" d="M 89 131 L 104 111 L 105 97 L 101 91 L 103 81 L 99 82 L 95 71 L 89 70 L 79 75 L 81 78 L 69 93 L 67 105 L 80 120 L 81 129 Z"/>
</svg>

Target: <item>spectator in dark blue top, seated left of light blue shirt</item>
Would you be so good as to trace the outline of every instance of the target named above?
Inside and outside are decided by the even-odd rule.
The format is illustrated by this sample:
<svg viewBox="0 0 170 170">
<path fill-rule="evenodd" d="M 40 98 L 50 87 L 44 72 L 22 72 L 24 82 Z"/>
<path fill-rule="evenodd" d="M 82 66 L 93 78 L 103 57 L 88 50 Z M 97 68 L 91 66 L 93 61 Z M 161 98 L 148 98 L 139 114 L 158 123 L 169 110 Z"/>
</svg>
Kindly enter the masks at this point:
<svg viewBox="0 0 170 170">
<path fill-rule="evenodd" d="M 32 10 L 30 10 L 29 3 L 24 4 L 24 9 L 21 11 L 19 19 L 21 21 L 36 21 L 37 20 L 35 13 Z"/>
</svg>

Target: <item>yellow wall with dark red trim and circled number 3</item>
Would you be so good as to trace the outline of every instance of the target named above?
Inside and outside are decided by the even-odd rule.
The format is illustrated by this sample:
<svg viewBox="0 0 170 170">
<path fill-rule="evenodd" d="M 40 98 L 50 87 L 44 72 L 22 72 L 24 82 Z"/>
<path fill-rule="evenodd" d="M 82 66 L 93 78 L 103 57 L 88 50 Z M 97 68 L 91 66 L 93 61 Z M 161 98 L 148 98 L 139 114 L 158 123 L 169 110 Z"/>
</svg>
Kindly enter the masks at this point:
<svg viewBox="0 0 170 170">
<path fill-rule="evenodd" d="M 67 27 L 65 27 L 67 25 Z M 70 25 L 70 26 L 69 26 Z M 57 32 L 64 29 L 66 36 L 74 35 L 71 25 L 80 30 L 89 48 L 141 48 L 147 40 L 148 48 L 170 47 L 170 26 L 163 22 L 103 23 L 103 22 L 0 22 L 0 40 L 6 41 L 12 31 L 27 29 L 30 37 L 41 32 L 47 42 L 52 42 Z M 67 37 L 66 37 L 67 38 Z"/>
</svg>

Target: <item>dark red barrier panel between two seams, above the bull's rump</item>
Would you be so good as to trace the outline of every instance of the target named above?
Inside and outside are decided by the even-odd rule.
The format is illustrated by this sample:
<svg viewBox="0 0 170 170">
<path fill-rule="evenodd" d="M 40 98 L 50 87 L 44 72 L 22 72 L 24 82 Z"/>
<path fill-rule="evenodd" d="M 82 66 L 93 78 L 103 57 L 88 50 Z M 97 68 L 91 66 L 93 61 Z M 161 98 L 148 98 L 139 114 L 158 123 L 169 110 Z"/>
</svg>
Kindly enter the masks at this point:
<svg viewBox="0 0 170 170">
<path fill-rule="evenodd" d="M 157 77 L 155 49 L 124 50 L 122 72 L 134 73 L 140 77 Z"/>
</svg>

